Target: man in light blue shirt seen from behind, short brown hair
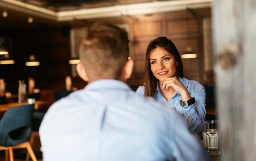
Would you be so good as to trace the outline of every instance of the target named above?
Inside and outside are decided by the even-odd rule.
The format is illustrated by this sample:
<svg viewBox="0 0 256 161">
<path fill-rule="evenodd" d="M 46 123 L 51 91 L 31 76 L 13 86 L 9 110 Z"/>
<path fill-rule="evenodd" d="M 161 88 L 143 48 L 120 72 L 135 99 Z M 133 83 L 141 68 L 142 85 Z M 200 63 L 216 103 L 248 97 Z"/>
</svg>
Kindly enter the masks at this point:
<svg viewBox="0 0 256 161">
<path fill-rule="evenodd" d="M 88 85 L 47 111 L 40 127 L 44 161 L 209 159 L 182 116 L 125 84 L 133 69 L 125 30 L 92 25 L 79 56 L 76 69 Z"/>
</svg>

